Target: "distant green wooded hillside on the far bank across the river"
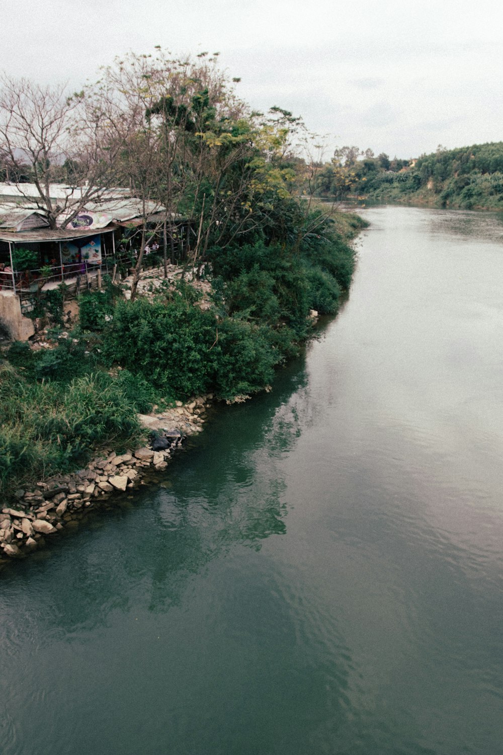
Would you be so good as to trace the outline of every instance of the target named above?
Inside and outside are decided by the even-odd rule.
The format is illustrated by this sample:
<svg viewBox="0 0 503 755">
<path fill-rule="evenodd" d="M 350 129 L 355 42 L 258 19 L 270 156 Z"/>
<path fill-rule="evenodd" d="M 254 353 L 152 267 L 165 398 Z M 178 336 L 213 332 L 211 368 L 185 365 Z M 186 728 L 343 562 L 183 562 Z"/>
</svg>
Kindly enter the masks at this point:
<svg viewBox="0 0 503 755">
<path fill-rule="evenodd" d="M 392 202 L 419 202 L 437 207 L 503 208 L 503 142 L 459 149 L 439 145 L 431 155 L 391 160 L 356 147 L 336 150 L 318 171 L 321 196 L 365 196 Z"/>
</svg>

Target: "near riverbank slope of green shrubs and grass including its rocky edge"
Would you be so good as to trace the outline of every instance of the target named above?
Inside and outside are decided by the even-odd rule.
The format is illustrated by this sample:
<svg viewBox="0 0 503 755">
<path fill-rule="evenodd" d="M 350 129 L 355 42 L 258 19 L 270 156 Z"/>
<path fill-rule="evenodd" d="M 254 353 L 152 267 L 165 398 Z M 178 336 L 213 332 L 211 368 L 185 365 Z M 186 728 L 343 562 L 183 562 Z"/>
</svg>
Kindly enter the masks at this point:
<svg viewBox="0 0 503 755">
<path fill-rule="evenodd" d="M 314 220 L 320 233 L 300 255 L 258 242 L 219 254 L 204 281 L 182 268 L 167 280 L 145 270 L 137 300 L 127 281 L 84 292 L 65 331 L 46 327 L 33 344 L 4 347 L 6 556 L 35 550 L 139 484 L 144 468 L 161 471 L 171 448 L 146 448 L 146 433 L 197 433 L 208 402 L 268 390 L 312 336 L 317 313 L 339 309 L 354 270 L 349 242 L 366 225 L 352 213 Z"/>
</svg>

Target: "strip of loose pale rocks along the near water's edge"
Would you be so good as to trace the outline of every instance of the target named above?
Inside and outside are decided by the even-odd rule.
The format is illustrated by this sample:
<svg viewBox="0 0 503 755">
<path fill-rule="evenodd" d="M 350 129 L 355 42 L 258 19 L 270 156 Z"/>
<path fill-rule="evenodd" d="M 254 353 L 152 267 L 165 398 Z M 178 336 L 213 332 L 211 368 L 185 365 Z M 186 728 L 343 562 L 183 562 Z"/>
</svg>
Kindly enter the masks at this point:
<svg viewBox="0 0 503 755">
<path fill-rule="evenodd" d="M 150 444 L 119 452 L 104 449 L 87 467 L 56 475 L 14 492 L 15 503 L 0 513 L 0 565 L 23 558 L 67 527 L 75 526 L 89 510 L 110 505 L 118 494 L 146 484 L 147 472 L 161 471 L 186 436 L 201 432 L 212 394 L 160 414 L 140 414 Z M 3 556 L 3 557 L 2 557 Z"/>
</svg>

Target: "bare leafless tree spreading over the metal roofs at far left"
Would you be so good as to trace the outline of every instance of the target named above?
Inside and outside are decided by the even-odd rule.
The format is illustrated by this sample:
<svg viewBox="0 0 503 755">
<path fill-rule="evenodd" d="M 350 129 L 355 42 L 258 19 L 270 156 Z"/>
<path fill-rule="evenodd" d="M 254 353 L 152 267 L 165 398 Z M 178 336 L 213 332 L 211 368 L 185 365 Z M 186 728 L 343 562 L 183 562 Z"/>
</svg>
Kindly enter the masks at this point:
<svg viewBox="0 0 503 755">
<path fill-rule="evenodd" d="M 99 201 L 113 155 L 103 143 L 103 113 L 83 93 L 0 77 L 0 159 L 23 204 L 66 227 L 88 202 Z M 55 196 L 53 184 L 71 180 Z"/>
</svg>

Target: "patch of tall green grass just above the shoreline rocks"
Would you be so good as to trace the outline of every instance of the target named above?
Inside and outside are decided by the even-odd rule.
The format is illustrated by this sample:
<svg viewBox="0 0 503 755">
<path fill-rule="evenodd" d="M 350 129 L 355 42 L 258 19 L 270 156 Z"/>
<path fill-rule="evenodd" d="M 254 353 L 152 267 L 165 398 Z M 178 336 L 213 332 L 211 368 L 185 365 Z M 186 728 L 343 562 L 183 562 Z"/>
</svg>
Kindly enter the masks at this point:
<svg viewBox="0 0 503 755">
<path fill-rule="evenodd" d="M 26 381 L 0 365 L 0 491 L 66 471 L 102 442 L 140 439 L 134 408 L 104 372 L 60 383 Z"/>
</svg>

